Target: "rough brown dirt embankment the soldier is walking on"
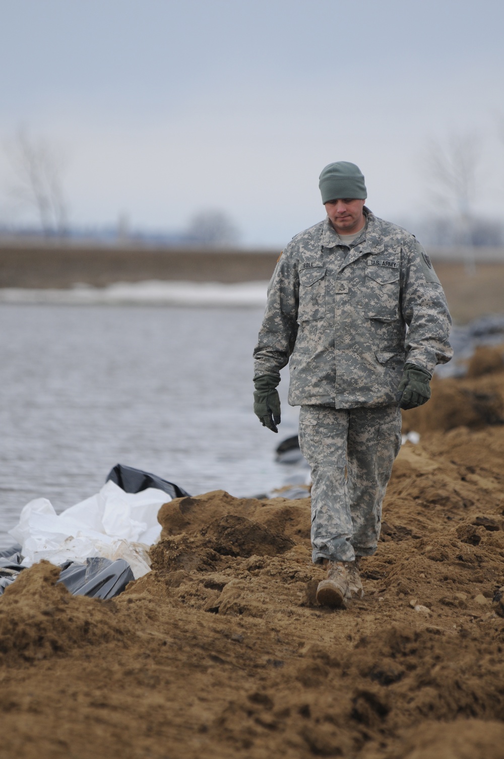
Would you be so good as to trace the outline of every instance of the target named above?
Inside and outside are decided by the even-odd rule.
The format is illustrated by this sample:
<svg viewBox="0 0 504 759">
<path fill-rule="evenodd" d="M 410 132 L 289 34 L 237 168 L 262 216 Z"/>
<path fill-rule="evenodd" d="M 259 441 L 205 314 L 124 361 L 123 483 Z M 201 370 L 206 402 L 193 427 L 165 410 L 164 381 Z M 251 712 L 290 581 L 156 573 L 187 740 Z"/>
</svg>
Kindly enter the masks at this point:
<svg viewBox="0 0 504 759">
<path fill-rule="evenodd" d="M 114 601 L 71 597 L 48 564 L 24 572 L 0 600 L 0 757 L 501 759 L 504 370 L 496 354 L 480 369 L 490 358 L 433 384 L 436 414 L 405 414 L 421 442 L 395 462 L 366 595 L 346 611 L 314 602 L 308 499 L 166 504 L 153 572 Z M 489 417 L 471 393 L 501 405 Z"/>
</svg>

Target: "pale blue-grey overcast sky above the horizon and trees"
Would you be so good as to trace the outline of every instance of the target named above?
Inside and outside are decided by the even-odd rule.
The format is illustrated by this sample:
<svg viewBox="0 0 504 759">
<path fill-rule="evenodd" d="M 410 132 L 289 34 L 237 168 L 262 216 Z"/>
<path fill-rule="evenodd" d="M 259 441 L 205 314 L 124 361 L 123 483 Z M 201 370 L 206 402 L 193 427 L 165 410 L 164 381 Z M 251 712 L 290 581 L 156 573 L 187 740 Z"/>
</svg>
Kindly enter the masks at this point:
<svg viewBox="0 0 504 759">
<path fill-rule="evenodd" d="M 0 0 L 0 135 L 66 156 L 74 225 L 183 228 L 225 210 L 281 247 L 357 163 L 368 205 L 429 207 L 427 140 L 477 135 L 477 208 L 502 217 L 502 0 Z M 5 151 L 0 219 L 13 216 Z M 414 230 L 412 230 L 414 231 Z"/>
</svg>

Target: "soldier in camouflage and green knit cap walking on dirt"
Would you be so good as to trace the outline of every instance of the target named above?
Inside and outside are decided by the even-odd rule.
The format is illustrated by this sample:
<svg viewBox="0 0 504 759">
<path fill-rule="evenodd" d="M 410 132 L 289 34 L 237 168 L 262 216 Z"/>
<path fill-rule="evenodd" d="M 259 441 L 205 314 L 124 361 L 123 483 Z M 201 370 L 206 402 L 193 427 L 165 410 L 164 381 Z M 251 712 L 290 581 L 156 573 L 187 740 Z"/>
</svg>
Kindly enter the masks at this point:
<svg viewBox="0 0 504 759">
<path fill-rule="evenodd" d="M 323 169 L 326 219 L 283 250 L 254 350 L 254 412 L 278 432 L 276 386 L 290 359 L 288 402 L 311 468 L 312 559 L 327 568 L 317 600 L 345 606 L 364 590 L 360 556 L 380 537 L 383 496 L 401 446 L 400 408 L 430 398 L 452 357 L 443 288 L 414 235 L 364 205 L 353 163 Z"/>
</svg>

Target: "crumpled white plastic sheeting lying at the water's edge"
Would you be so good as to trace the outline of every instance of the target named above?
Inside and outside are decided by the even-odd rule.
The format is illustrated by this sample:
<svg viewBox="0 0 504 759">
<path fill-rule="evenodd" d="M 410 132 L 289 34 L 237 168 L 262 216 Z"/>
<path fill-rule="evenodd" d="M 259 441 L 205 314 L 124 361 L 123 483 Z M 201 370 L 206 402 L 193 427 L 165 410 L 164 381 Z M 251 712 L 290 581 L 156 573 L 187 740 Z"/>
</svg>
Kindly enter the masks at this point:
<svg viewBox="0 0 504 759">
<path fill-rule="evenodd" d="M 109 481 L 99 493 L 61 514 L 46 498 L 30 501 L 9 534 L 22 546 L 24 566 L 42 559 L 59 565 L 103 556 L 125 559 L 137 579 L 150 571 L 147 550 L 161 534 L 157 514 L 171 500 L 153 487 L 124 493 Z"/>
</svg>

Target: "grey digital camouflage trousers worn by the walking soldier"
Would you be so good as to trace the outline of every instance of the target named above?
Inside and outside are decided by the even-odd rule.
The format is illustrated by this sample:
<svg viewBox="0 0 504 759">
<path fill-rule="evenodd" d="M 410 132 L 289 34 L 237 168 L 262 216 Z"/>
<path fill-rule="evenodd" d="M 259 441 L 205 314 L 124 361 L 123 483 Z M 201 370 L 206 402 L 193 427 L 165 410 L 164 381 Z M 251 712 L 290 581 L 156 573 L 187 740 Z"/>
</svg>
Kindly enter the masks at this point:
<svg viewBox="0 0 504 759">
<path fill-rule="evenodd" d="M 371 556 L 380 537 L 383 496 L 401 447 L 398 406 L 303 406 L 299 442 L 313 483 L 313 562 Z"/>
</svg>

